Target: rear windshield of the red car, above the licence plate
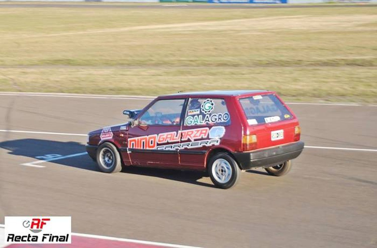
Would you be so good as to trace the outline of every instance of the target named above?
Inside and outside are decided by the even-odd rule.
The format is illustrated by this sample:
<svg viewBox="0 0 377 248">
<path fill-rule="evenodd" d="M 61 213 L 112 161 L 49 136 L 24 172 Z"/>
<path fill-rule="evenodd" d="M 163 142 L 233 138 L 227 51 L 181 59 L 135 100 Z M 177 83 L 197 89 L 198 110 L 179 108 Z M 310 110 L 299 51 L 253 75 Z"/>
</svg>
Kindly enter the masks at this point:
<svg viewBox="0 0 377 248">
<path fill-rule="evenodd" d="M 277 122 L 293 117 L 274 94 L 254 95 L 241 98 L 239 102 L 244 109 L 249 125 Z"/>
</svg>

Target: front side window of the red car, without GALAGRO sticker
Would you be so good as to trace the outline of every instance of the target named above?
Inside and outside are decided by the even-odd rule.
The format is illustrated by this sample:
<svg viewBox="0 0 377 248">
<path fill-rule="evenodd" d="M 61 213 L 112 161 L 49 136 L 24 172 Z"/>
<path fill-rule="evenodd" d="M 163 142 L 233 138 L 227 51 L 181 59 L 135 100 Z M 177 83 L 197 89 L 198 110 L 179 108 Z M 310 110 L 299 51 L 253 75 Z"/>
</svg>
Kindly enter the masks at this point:
<svg viewBox="0 0 377 248">
<path fill-rule="evenodd" d="M 184 102 L 184 99 L 156 101 L 139 118 L 139 123 L 144 125 L 179 125 Z"/>
</svg>

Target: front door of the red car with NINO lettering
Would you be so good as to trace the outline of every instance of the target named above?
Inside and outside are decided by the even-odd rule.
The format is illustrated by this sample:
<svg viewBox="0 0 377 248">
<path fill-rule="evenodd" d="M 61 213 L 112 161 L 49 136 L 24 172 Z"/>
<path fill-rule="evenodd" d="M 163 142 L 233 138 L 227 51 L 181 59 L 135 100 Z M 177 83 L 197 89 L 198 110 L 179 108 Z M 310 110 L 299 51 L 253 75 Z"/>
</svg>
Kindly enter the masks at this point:
<svg viewBox="0 0 377 248">
<path fill-rule="evenodd" d="M 156 100 L 130 127 L 127 136 L 131 164 L 153 167 L 179 165 L 181 116 L 185 99 Z"/>
</svg>

